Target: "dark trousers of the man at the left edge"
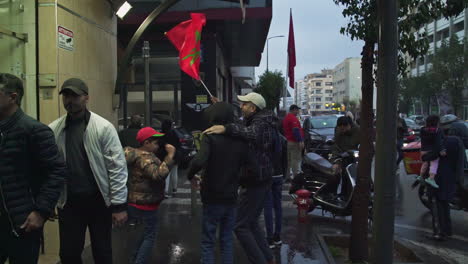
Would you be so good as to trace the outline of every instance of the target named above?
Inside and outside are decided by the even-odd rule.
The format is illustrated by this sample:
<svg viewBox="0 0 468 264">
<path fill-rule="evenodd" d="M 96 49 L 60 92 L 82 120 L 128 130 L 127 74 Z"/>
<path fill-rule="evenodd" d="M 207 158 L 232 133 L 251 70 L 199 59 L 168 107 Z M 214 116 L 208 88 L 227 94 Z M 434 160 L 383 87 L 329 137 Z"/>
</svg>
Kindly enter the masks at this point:
<svg viewBox="0 0 468 264">
<path fill-rule="evenodd" d="M 10 264 L 36 264 L 41 232 L 36 230 L 16 237 L 11 232 L 6 215 L 0 215 L 0 264 L 7 259 Z"/>
</svg>

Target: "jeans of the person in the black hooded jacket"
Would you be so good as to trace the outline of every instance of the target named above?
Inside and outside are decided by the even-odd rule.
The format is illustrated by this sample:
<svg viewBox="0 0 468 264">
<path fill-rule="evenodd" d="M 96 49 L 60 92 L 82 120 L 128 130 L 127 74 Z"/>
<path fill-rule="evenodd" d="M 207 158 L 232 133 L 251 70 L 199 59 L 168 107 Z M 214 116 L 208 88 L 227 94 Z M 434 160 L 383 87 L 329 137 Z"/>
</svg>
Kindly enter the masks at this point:
<svg viewBox="0 0 468 264">
<path fill-rule="evenodd" d="M 236 222 L 236 211 L 235 205 L 203 204 L 202 264 L 215 263 L 214 249 L 218 226 L 222 263 L 234 263 L 232 231 Z"/>
</svg>

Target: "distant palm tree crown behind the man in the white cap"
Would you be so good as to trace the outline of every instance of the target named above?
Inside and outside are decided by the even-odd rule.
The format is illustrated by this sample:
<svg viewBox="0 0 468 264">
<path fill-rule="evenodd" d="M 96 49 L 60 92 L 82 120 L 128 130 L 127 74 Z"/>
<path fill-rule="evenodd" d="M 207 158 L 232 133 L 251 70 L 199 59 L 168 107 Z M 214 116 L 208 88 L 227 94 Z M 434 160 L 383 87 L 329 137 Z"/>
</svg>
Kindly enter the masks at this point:
<svg viewBox="0 0 468 264">
<path fill-rule="evenodd" d="M 263 98 L 265 98 L 268 109 L 279 109 L 280 97 L 285 83 L 286 80 L 282 72 L 265 71 L 260 76 L 255 92 L 261 94 Z"/>
</svg>

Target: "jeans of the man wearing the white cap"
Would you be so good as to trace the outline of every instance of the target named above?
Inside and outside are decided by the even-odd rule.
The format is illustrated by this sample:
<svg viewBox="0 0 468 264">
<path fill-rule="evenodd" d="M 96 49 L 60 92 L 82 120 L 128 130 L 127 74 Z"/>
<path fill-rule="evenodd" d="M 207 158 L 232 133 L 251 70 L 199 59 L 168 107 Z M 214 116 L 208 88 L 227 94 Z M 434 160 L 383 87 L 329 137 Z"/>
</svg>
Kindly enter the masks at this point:
<svg viewBox="0 0 468 264">
<path fill-rule="evenodd" d="M 258 221 L 265 205 L 265 199 L 271 190 L 271 183 L 242 188 L 235 232 L 252 264 L 265 264 L 273 260 L 273 254 Z"/>
</svg>

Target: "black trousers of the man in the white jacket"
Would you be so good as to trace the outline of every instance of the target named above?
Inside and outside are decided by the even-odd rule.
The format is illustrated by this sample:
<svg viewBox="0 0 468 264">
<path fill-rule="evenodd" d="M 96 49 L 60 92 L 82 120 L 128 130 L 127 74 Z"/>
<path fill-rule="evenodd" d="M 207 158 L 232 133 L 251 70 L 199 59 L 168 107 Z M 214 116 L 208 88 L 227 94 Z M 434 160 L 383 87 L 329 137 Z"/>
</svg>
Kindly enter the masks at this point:
<svg viewBox="0 0 468 264">
<path fill-rule="evenodd" d="M 60 260 L 62 264 L 82 264 L 86 229 L 89 228 L 94 263 L 112 264 L 112 212 L 101 194 L 67 201 L 58 210 Z"/>
</svg>

